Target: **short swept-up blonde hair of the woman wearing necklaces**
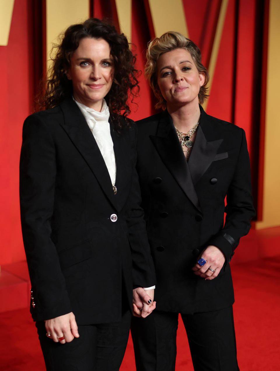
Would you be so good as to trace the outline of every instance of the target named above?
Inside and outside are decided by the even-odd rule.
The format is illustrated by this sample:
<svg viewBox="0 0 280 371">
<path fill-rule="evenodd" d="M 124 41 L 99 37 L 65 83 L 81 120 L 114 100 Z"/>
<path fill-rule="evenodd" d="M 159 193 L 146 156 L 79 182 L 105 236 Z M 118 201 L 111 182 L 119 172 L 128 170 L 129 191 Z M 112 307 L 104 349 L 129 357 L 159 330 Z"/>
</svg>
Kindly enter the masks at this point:
<svg viewBox="0 0 280 371">
<path fill-rule="evenodd" d="M 187 50 L 195 63 L 198 73 L 204 74 L 204 84 L 200 87 L 198 93 L 198 101 L 200 104 L 204 102 L 207 95 L 207 83 L 209 81 L 209 74 L 207 68 L 201 63 L 200 49 L 194 42 L 187 39 L 179 32 L 169 31 L 165 32 L 161 37 L 156 37 L 154 40 L 148 43 L 148 49 L 146 52 L 147 62 L 145 65 L 145 78 L 148 80 L 153 92 L 158 99 L 155 108 L 166 108 L 166 101 L 158 89 L 157 83 L 157 61 L 160 55 L 170 52 L 174 49 L 185 49 Z"/>
</svg>

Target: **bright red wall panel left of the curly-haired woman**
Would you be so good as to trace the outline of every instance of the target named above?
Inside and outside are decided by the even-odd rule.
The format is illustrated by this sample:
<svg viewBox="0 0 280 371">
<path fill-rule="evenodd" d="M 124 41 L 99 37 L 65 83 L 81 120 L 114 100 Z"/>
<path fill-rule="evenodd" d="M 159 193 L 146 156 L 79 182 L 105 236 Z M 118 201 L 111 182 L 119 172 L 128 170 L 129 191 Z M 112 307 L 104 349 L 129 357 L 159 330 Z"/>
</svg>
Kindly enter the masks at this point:
<svg viewBox="0 0 280 371">
<path fill-rule="evenodd" d="M 0 46 L 0 264 L 25 258 L 19 216 L 22 124 L 33 100 L 30 1 L 15 0 L 9 43 Z"/>
</svg>

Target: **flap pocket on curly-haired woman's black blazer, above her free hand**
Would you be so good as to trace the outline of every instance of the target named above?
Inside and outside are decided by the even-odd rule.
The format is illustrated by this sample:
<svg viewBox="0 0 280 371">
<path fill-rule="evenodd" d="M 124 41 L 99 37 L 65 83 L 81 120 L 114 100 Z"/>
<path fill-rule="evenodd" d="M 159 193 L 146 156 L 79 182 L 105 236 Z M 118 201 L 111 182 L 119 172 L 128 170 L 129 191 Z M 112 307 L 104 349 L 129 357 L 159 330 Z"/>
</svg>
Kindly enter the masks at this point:
<svg viewBox="0 0 280 371">
<path fill-rule="evenodd" d="M 80 263 L 92 256 L 92 245 L 89 240 L 69 247 L 58 254 L 62 269 Z"/>
</svg>

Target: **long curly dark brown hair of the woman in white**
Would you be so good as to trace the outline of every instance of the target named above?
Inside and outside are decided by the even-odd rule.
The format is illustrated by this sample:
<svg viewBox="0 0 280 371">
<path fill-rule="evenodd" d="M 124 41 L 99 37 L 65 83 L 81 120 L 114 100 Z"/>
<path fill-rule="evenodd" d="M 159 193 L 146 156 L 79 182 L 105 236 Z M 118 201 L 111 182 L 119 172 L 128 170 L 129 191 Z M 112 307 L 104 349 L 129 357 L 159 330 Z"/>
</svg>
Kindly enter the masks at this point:
<svg viewBox="0 0 280 371">
<path fill-rule="evenodd" d="M 65 98 L 72 96 L 72 81 L 67 79 L 65 70 L 70 68 L 71 57 L 79 46 L 81 39 L 92 37 L 104 39 L 111 48 L 114 62 L 114 76 L 110 91 L 105 96 L 111 118 L 116 122 L 116 128 L 122 127 L 120 116 L 126 118 L 131 110 L 131 102 L 139 94 L 138 74 L 135 69 L 136 56 L 129 49 L 125 35 L 119 34 L 109 22 L 90 18 L 83 23 L 69 26 L 59 37 L 60 42 L 53 46 L 52 66 L 48 70 L 45 92 L 39 99 L 40 110 L 57 106 Z M 127 122 L 128 119 L 126 119 Z"/>
</svg>

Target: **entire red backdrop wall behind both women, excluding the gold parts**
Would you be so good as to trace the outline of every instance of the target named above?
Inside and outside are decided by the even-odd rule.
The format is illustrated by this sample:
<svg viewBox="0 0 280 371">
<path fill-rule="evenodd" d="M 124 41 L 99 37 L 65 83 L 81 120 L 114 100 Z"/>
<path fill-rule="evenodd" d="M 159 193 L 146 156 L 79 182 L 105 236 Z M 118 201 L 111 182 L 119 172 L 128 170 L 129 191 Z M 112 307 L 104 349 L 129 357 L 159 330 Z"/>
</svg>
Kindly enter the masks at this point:
<svg viewBox="0 0 280 371">
<path fill-rule="evenodd" d="M 106 3 L 106 4 L 105 4 Z M 260 133 L 260 97 L 265 60 L 266 29 L 262 29 L 265 12 L 263 1 L 229 0 L 218 53 L 214 81 L 207 113 L 234 122 L 246 131 L 253 170 L 253 191 L 257 194 L 258 145 Z M 34 23 L 34 4 L 41 19 L 44 0 L 15 0 L 8 46 L 0 46 L 1 123 L 0 123 L 0 264 L 24 259 L 19 217 L 19 154 L 24 118 L 32 110 L 34 82 L 42 69 L 43 46 L 41 22 Z M 38 5 L 39 4 L 39 5 Z M 145 49 L 153 37 L 148 1 L 132 0 L 132 43 L 135 44 L 137 67 L 144 70 Z M 207 66 L 215 35 L 220 0 L 183 0 L 190 38 L 201 48 L 202 62 Z M 116 20 L 114 1 L 92 0 L 92 16 Z M 106 5 L 106 6 L 105 6 Z M 42 6 L 42 9 L 41 9 Z M 41 13 L 40 13 L 41 12 Z M 117 22 L 117 20 L 116 20 Z M 34 43 L 35 40 L 35 43 Z M 41 50 L 38 50 L 38 45 Z M 264 58 L 263 58 L 264 56 Z M 37 62 L 34 64 L 34 60 Z M 40 65 L 40 68 L 38 66 Z M 38 72 L 39 71 L 39 72 Z M 151 115 L 154 97 L 144 79 L 139 78 L 141 96 L 132 105 L 131 118 Z M 264 80 L 264 79 L 263 79 Z M 258 144 L 258 143 L 257 143 Z M 257 197 L 255 197 L 257 199 Z M 261 205 L 260 205 L 261 206 Z M 259 207 L 260 207 L 259 206 Z"/>
</svg>

